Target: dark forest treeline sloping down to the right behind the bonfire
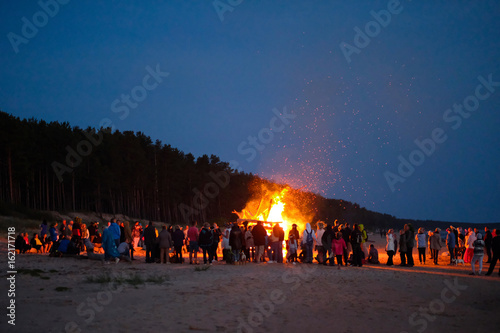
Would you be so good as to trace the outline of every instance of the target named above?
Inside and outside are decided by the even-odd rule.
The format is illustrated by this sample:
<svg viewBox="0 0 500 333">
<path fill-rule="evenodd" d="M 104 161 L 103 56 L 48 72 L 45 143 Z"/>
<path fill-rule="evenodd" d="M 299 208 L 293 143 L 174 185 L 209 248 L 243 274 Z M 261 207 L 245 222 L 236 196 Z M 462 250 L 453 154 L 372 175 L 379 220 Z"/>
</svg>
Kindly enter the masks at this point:
<svg viewBox="0 0 500 333">
<path fill-rule="evenodd" d="M 141 132 L 96 133 L 67 122 L 21 120 L 0 111 L 0 214 L 26 207 L 125 214 L 168 223 L 231 221 L 237 218 L 234 210 L 242 210 L 259 195 L 259 184 L 273 190 L 286 186 L 233 170 L 215 155 L 195 158 Z M 293 191 L 291 204 L 312 216 L 311 222 L 337 219 L 371 228 L 417 223 L 348 201 Z"/>
</svg>

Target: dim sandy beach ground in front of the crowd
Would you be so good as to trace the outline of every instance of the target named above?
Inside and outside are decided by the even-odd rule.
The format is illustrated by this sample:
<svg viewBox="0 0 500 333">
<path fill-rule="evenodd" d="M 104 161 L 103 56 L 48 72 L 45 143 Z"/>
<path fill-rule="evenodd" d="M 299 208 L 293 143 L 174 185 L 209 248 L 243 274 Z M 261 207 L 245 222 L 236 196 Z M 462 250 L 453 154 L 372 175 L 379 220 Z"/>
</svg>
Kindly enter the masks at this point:
<svg viewBox="0 0 500 333">
<path fill-rule="evenodd" d="M 385 240 L 372 236 L 386 261 Z M 2 332 L 480 332 L 500 327 L 500 277 L 470 265 L 146 264 L 16 255 L 15 326 Z M 397 256 L 399 257 L 399 256 Z M 418 255 L 414 250 L 418 263 Z M 399 264 L 396 258 L 395 264 Z M 196 270 L 196 268 L 198 270 Z M 33 275 L 26 274 L 41 270 Z M 24 270 L 25 273 L 19 273 Z M 90 279 L 111 282 L 89 282 Z M 118 280 L 131 279 L 119 284 Z M 162 279 L 164 279 L 162 281 Z M 149 280 L 149 281 L 148 281 Z M 135 281 L 135 282 L 134 282 Z"/>
</svg>

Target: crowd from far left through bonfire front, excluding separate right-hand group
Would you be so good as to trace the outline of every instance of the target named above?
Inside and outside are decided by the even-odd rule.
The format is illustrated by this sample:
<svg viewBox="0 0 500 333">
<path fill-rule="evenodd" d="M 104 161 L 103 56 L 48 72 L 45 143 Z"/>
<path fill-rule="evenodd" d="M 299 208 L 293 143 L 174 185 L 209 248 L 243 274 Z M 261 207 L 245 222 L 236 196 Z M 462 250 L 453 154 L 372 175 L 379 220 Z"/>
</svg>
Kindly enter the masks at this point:
<svg viewBox="0 0 500 333">
<path fill-rule="evenodd" d="M 199 264 L 198 255 L 204 264 L 211 264 L 219 261 L 218 252 L 222 252 L 221 259 L 227 263 L 296 264 L 316 260 L 335 265 L 336 260 L 336 265 L 361 267 L 365 258 L 378 263 L 376 249 L 372 247 L 368 253 L 364 246 L 367 234 L 363 225 L 354 225 L 351 230 L 347 223 L 318 222 L 317 230 L 307 223 L 302 232 L 294 224 L 285 235 L 279 223 L 272 228 L 264 227 L 262 222 L 229 223 L 222 228 L 215 223 L 204 223 L 198 229 L 197 222 L 193 222 L 184 228 L 163 225 L 158 232 L 152 222 L 143 228 L 137 221 L 130 228 L 128 221 L 111 219 L 99 232 L 98 222 L 87 226 L 77 217 L 75 221 L 54 222 L 50 227 L 43 221 L 40 232 L 34 233 L 31 241 L 27 237 L 21 233 L 16 240 L 20 253 L 36 249 L 51 256 L 71 256 L 86 251 L 89 258 L 105 262 L 132 261 L 135 249 L 142 248 L 146 263 L 183 263 L 183 253 L 188 253 L 189 264 Z M 317 255 L 313 258 L 314 253 Z"/>
</svg>

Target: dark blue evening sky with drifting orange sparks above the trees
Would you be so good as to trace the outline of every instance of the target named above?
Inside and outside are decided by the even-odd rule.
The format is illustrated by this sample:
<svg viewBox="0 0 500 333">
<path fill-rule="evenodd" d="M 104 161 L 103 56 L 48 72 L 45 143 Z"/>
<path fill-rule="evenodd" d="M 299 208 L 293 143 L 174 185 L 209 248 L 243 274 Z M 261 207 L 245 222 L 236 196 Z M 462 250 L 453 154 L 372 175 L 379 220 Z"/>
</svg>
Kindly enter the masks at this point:
<svg viewBox="0 0 500 333">
<path fill-rule="evenodd" d="M 498 1 L 40 3 L 2 2 L 4 112 L 400 218 L 500 221 Z"/>
</svg>

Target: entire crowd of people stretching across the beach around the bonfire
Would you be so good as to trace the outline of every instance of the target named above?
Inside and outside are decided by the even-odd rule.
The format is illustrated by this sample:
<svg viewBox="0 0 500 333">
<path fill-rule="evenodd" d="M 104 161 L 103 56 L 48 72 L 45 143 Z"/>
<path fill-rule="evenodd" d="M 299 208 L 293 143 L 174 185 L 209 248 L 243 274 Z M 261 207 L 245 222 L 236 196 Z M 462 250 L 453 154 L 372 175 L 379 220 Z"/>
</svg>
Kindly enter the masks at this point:
<svg viewBox="0 0 500 333">
<path fill-rule="evenodd" d="M 411 224 L 406 224 L 399 232 L 393 229 L 381 231 L 386 238 L 388 266 L 394 265 L 394 256 L 399 251 L 399 266 L 413 267 L 413 248 L 417 248 L 420 265 L 426 264 L 427 255 L 434 265 L 438 265 L 439 252 L 446 248 L 449 264 L 470 263 L 470 274 L 481 275 L 483 259 L 490 264 L 486 275 L 491 275 L 499 259 L 500 235 L 485 228 L 481 233 L 477 228 L 454 228 L 450 226 L 446 237 L 439 228 L 426 232 L 419 228 L 416 232 Z M 399 236 L 397 235 L 399 234 Z M 134 252 L 145 250 L 146 263 L 183 263 L 183 253 L 187 253 L 189 264 L 197 265 L 225 261 L 229 264 L 241 262 L 313 263 L 330 266 L 362 267 L 364 264 L 379 264 L 378 251 L 373 244 L 366 246 L 368 234 L 363 224 L 316 223 L 314 230 L 310 223 L 299 231 L 296 224 L 285 235 L 279 223 L 271 227 L 257 221 L 228 223 L 219 228 L 216 223 L 204 223 L 198 228 L 197 222 L 182 228 L 179 225 L 162 225 L 161 230 L 150 221 L 143 228 L 139 221 L 132 227 L 128 221 L 111 219 L 99 231 L 99 223 L 87 225 L 80 218 L 75 221 L 46 221 L 40 225 L 40 232 L 31 240 L 27 233 L 20 233 L 15 241 L 16 249 L 25 253 L 34 249 L 37 253 L 51 256 L 71 256 L 87 252 L 89 259 L 106 263 L 135 260 Z M 218 257 L 218 252 L 222 257 Z M 285 254 L 285 255 L 284 255 Z M 198 260 L 198 256 L 200 260 Z M 475 266 L 478 265 L 476 272 Z M 499 271 L 500 274 L 500 271 Z"/>
</svg>

